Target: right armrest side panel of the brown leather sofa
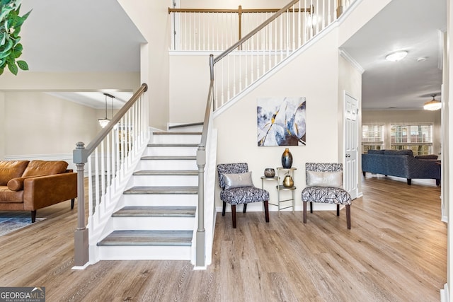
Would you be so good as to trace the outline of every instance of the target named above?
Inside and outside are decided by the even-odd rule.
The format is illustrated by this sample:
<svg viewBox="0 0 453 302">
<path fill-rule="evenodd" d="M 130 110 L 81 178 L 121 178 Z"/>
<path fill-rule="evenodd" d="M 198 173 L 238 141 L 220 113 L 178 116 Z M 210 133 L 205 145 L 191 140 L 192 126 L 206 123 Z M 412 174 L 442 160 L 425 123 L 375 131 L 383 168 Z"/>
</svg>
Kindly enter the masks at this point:
<svg viewBox="0 0 453 302">
<path fill-rule="evenodd" d="M 24 210 L 34 211 L 77 197 L 77 173 L 27 178 L 23 181 Z"/>
</svg>

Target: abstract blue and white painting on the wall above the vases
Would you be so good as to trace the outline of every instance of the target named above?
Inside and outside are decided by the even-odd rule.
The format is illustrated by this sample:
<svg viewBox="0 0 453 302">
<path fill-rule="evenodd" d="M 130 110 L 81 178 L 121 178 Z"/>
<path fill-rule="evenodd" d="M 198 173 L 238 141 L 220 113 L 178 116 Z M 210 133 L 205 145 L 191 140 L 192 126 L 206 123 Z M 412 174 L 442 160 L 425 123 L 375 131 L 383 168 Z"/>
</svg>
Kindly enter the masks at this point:
<svg viewBox="0 0 453 302">
<path fill-rule="evenodd" d="M 305 98 L 258 98 L 258 146 L 305 146 Z"/>
</svg>

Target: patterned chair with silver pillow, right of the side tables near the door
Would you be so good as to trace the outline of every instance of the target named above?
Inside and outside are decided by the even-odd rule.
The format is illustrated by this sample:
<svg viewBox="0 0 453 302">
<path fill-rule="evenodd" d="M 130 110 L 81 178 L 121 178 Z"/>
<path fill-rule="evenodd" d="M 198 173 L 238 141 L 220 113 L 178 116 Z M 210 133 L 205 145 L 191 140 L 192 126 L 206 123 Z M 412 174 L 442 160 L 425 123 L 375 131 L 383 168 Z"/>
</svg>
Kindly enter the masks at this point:
<svg viewBox="0 0 453 302">
<path fill-rule="evenodd" d="M 352 199 L 343 190 L 342 163 L 306 163 L 306 187 L 302 190 L 304 202 L 304 223 L 306 223 L 306 203 L 310 202 L 310 213 L 313 213 L 313 202 L 337 205 L 337 216 L 340 216 L 340 204 L 346 206 L 346 223 L 351 228 Z"/>
</svg>

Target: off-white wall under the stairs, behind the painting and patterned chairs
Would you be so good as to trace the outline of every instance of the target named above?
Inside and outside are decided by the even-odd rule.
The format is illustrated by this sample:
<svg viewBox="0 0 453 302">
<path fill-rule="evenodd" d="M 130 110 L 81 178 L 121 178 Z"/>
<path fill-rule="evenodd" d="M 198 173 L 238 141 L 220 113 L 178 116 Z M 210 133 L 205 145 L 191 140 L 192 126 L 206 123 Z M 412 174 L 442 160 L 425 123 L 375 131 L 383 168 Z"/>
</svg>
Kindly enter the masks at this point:
<svg viewBox="0 0 453 302">
<path fill-rule="evenodd" d="M 296 207 L 302 209 L 305 163 L 338 161 L 338 30 L 333 30 L 292 62 L 260 83 L 253 91 L 214 116 L 218 131 L 217 163 L 245 161 L 252 170 L 253 183 L 260 187 L 265 168 L 282 165 L 285 146 L 258 147 L 256 105 L 258 98 L 306 98 L 306 146 L 289 146 L 293 156 Z M 274 184 L 275 185 L 275 184 Z M 267 187 L 271 202 L 275 187 Z M 218 184 L 216 204 L 220 207 Z M 287 193 L 287 192 L 283 192 Z M 254 205 L 250 205 L 253 208 Z M 258 207 L 261 207 L 259 204 Z M 275 208 L 270 208 L 271 210 Z"/>
</svg>

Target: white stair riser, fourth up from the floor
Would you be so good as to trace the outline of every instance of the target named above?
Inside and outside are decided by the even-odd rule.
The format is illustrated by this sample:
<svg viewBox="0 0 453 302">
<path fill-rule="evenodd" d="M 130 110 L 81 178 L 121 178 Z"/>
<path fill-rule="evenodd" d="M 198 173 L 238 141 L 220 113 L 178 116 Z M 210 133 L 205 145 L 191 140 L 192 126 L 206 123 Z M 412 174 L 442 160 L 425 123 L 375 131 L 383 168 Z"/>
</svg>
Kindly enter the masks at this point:
<svg viewBox="0 0 453 302">
<path fill-rule="evenodd" d="M 197 186 L 198 175 L 134 175 L 128 187 L 132 186 Z"/>
</svg>

